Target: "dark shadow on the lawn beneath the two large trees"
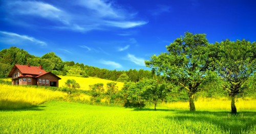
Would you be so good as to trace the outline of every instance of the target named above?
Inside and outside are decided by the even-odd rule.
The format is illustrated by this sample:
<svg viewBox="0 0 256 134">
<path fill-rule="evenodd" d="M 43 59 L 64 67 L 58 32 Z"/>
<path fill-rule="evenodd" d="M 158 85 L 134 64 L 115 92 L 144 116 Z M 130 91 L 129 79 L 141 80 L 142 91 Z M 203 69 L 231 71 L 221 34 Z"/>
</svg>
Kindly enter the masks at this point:
<svg viewBox="0 0 256 134">
<path fill-rule="evenodd" d="M 240 112 L 237 115 L 230 112 L 209 112 L 209 111 L 180 111 L 173 116 L 167 116 L 166 119 L 186 122 L 208 122 L 220 126 L 221 129 L 230 133 L 249 132 L 250 128 L 255 126 L 256 112 Z M 241 131 L 242 130 L 242 131 Z"/>
</svg>

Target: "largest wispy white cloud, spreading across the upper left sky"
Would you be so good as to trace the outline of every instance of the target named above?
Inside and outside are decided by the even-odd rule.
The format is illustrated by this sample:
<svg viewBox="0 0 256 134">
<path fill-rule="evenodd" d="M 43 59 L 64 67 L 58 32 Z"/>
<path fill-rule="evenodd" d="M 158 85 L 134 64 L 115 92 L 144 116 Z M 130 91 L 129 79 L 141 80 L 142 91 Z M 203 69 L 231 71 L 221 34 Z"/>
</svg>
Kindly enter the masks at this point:
<svg viewBox="0 0 256 134">
<path fill-rule="evenodd" d="M 103 0 L 74 0 L 74 2 L 67 1 L 61 4 L 58 4 L 58 1 L 50 4 L 40 1 L 14 0 L 4 2 L 3 5 L 7 20 L 34 24 L 32 19 L 17 18 L 20 16 L 35 19 L 41 17 L 53 21 L 51 28 L 60 30 L 87 32 L 109 28 L 129 29 L 147 23 L 147 21 L 136 19 L 135 13 Z M 49 28 L 48 25 L 46 26 Z"/>
</svg>

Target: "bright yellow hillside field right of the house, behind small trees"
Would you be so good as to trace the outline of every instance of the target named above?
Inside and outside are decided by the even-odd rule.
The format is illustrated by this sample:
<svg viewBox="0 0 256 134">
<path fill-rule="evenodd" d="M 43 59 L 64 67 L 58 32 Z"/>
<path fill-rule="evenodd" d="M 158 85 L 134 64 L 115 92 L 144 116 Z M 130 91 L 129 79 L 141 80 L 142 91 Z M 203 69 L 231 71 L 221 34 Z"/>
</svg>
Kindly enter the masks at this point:
<svg viewBox="0 0 256 134">
<path fill-rule="evenodd" d="M 80 85 L 81 90 L 90 90 L 89 86 L 94 85 L 97 83 L 103 83 L 104 89 L 106 89 L 106 84 L 111 83 L 113 81 L 102 79 L 102 78 L 96 78 L 96 77 L 76 77 L 76 76 L 59 76 L 61 79 L 59 80 L 59 87 L 65 87 L 65 82 L 68 79 L 75 79 L 75 81 Z M 115 82 L 117 83 L 118 89 L 121 90 L 123 88 L 123 83 L 121 82 Z"/>
</svg>

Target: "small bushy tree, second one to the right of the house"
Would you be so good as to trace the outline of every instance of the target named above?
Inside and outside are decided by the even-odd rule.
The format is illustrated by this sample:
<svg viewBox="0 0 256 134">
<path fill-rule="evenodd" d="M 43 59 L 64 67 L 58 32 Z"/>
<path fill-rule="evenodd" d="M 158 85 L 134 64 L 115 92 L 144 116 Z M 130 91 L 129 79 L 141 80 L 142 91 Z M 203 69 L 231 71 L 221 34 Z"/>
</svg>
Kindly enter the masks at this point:
<svg viewBox="0 0 256 134">
<path fill-rule="evenodd" d="M 104 93 L 103 83 L 97 83 L 90 85 L 92 102 L 94 104 L 95 100 L 99 100 L 101 95 Z"/>
</svg>

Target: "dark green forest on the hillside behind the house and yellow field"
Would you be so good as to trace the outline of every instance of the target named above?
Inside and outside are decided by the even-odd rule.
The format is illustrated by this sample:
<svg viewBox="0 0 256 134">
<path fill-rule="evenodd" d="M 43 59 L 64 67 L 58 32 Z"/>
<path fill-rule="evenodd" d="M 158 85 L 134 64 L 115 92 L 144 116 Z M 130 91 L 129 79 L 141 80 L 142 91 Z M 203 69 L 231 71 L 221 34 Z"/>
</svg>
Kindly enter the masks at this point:
<svg viewBox="0 0 256 134">
<path fill-rule="evenodd" d="M 152 77 L 151 71 L 143 69 L 117 71 L 88 66 L 83 63 L 75 63 L 74 61 L 63 62 L 54 52 L 46 53 L 42 57 L 36 57 L 18 47 L 10 47 L 9 49 L 0 51 L 0 77 L 7 77 L 15 64 L 29 64 L 30 66 L 42 65 L 42 68 L 47 72 L 51 71 L 56 75 L 92 76 L 119 82 L 138 82 L 141 78 Z"/>
</svg>

